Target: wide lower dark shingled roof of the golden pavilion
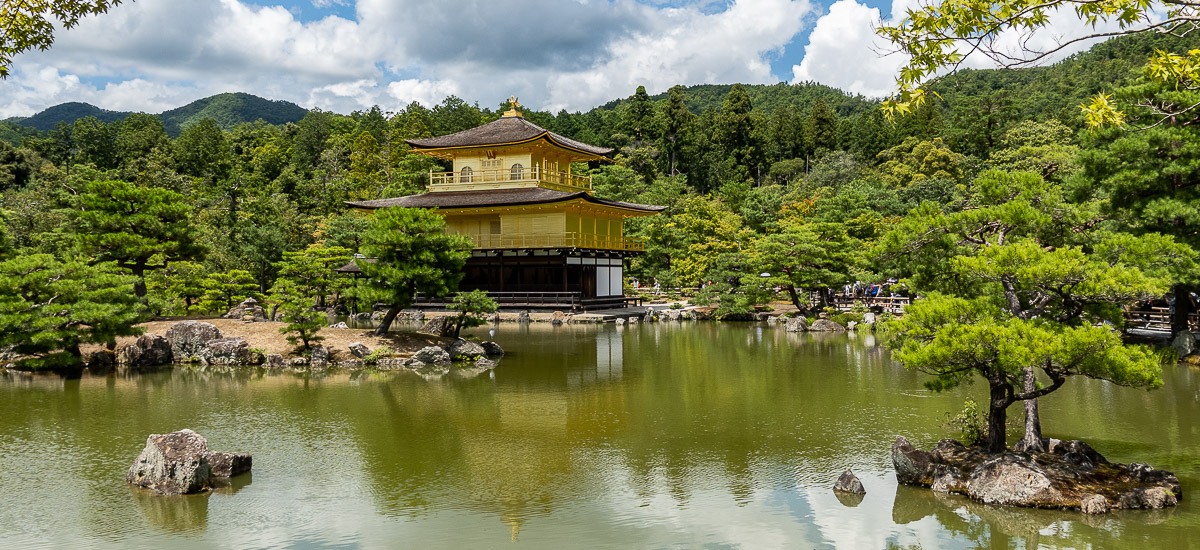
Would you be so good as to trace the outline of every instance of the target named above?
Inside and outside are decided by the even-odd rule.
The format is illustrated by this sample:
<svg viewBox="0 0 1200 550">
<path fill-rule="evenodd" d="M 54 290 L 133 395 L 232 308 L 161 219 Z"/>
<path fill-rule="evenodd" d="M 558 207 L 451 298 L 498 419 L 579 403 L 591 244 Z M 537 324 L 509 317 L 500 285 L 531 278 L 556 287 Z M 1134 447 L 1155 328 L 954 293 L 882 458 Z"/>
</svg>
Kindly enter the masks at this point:
<svg viewBox="0 0 1200 550">
<path fill-rule="evenodd" d="M 346 204 L 354 208 L 476 208 L 476 207 L 512 207 L 521 204 L 546 204 L 560 203 L 582 198 L 589 203 L 604 204 L 607 207 L 628 208 L 656 213 L 666 207 L 653 204 L 635 204 L 620 201 L 607 201 L 596 198 L 584 191 L 568 192 L 554 191 L 542 187 L 518 187 L 518 189 L 492 189 L 481 191 L 438 191 L 424 195 L 409 195 L 407 197 L 382 198 L 377 201 L 347 201 Z"/>
</svg>

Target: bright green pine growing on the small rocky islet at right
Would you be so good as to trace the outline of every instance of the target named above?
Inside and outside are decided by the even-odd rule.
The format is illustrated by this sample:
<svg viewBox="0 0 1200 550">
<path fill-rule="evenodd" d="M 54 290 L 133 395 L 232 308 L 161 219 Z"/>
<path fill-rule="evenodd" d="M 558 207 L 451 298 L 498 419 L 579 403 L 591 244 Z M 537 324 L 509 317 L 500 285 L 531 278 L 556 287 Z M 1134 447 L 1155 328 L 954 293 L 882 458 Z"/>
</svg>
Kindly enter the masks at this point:
<svg viewBox="0 0 1200 550">
<path fill-rule="evenodd" d="M 1160 384 L 1158 358 L 1126 345 L 1121 305 L 1166 287 L 1165 265 L 1194 253 L 1162 235 L 1097 232 L 1096 205 L 1067 203 L 1038 174 L 988 172 L 967 207 L 925 203 L 883 241 L 928 298 L 889 325 L 895 357 L 934 375 L 941 390 L 980 375 L 989 387 L 988 449 L 1006 448 L 1006 411 L 1025 403 L 1019 447 L 1044 450 L 1037 397 L 1075 375 L 1122 385 Z M 1050 384 L 1039 382 L 1038 372 Z"/>
</svg>

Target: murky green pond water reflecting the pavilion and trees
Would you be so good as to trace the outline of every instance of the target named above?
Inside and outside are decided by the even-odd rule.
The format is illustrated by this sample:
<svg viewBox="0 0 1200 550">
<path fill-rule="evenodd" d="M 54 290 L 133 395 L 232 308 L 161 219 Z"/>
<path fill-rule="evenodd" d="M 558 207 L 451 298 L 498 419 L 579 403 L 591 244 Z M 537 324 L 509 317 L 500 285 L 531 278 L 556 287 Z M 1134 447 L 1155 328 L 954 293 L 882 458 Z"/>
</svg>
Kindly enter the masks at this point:
<svg viewBox="0 0 1200 550">
<path fill-rule="evenodd" d="M 1087 518 L 898 488 L 894 436 L 932 444 L 985 388 L 930 394 L 870 335 L 502 324 L 496 340 L 494 371 L 445 376 L 0 377 L 0 546 L 1200 548 L 1187 367 L 1152 393 L 1073 379 L 1043 400 L 1049 436 L 1183 483 L 1177 508 Z M 145 436 L 181 428 L 253 454 L 253 473 L 200 496 L 128 488 Z M 829 490 L 847 467 L 860 502 Z"/>
</svg>

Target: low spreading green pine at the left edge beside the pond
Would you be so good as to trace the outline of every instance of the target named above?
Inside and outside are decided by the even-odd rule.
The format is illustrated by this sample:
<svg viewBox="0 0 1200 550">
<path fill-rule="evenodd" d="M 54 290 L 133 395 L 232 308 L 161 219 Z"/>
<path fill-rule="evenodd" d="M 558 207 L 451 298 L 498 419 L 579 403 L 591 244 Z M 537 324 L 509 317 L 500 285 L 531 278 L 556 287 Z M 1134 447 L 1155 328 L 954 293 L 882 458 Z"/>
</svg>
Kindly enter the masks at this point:
<svg viewBox="0 0 1200 550">
<path fill-rule="evenodd" d="M 22 255 L 0 262 L 0 348 L 28 369 L 77 367 L 84 343 L 116 346 L 142 321 L 133 277 L 112 264 Z"/>
</svg>

